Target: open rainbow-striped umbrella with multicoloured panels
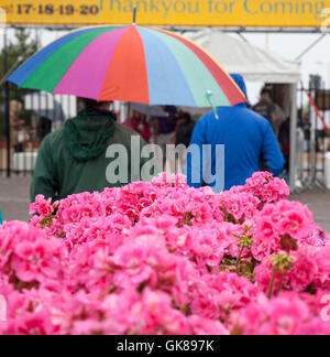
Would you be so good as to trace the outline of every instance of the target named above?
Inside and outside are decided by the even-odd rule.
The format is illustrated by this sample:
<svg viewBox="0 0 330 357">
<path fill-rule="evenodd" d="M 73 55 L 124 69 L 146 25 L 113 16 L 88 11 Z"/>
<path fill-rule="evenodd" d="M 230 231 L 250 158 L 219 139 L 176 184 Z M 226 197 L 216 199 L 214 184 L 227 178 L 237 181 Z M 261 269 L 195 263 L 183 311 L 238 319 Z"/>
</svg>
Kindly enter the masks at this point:
<svg viewBox="0 0 330 357">
<path fill-rule="evenodd" d="M 98 101 L 187 107 L 246 101 L 199 46 L 175 33 L 136 25 L 70 32 L 32 56 L 8 80 Z"/>
</svg>

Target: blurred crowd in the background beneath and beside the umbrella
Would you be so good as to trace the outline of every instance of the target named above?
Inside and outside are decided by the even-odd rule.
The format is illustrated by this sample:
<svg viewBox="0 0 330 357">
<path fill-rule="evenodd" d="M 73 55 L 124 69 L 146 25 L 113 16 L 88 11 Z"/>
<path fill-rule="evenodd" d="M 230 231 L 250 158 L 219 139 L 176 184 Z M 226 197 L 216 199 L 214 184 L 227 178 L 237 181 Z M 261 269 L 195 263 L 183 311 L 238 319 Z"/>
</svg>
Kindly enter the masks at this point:
<svg viewBox="0 0 330 357">
<path fill-rule="evenodd" d="M 30 96 L 33 96 L 30 95 Z M 40 94 L 38 94 L 40 96 Z M 285 94 L 282 90 L 274 90 L 272 85 L 265 85 L 260 95 L 260 101 L 251 106 L 251 110 L 265 117 L 271 123 L 286 159 L 286 171 L 288 171 L 289 150 L 290 150 L 290 117 L 289 110 L 286 108 Z M 36 98 L 28 98 L 30 101 Z M 54 102 L 50 105 L 47 99 L 47 109 L 45 107 L 45 98 L 37 99 L 42 104 L 37 110 L 33 110 L 33 104 L 29 105 L 26 96 L 24 100 L 14 99 L 10 102 L 10 121 L 11 121 L 11 148 L 13 158 L 30 153 L 26 164 L 24 156 L 24 170 L 33 169 L 36 160 L 37 150 L 42 140 L 52 131 L 63 126 L 64 121 L 70 117 L 70 113 L 79 110 L 79 102 L 73 104 L 67 109 L 67 100 L 65 104 L 52 99 Z M 35 101 L 35 100 L 34 100 Z M 28 105 L 26 105 L 28 104 Z M 280 104 L 280 105 L 279 105 Z M 64 107 L 64 108 L 63 108 Z M 50 109 L 51 108 L 51 109 Z M 132 130 L 141 134 L 147 143 L 154 143 L 162 147 L 164 167 L 167 171 L 185 173 L 186 170 L 186 153 L 177 158 L 176 163 L 167 162 L 166 145 L 167 144 L 184 144 L 188 147 L 194 132 L 194 127 L 199 118 L 210 109 L 189 109 L 175 107 L 147 107 L 142 105 L 113 105 L 111 108 L 123 126 L 130 127 Z M 67 113 L 68 112 L 68 113 Z M 311 131 L 314 129 L 314 118 L 309 111 L 299 112 L 299 133 L 304 141 L 304 151 L 310 151 Z M 330 148 L 329 133 L 323 128 L 317 130 L 317 152 L 326 152 Z M 6 170 L 6 153 L 7 145 L 4 140 L 0 140 L 0 170 Z M 32 156 L 31 156 L 32 155 Z M 2 158 L 3 156 L 3 158 Z M 1 158 L 3 160 L 1 160 Z M 28 161 L 29 161 L 28 160 Z M 22 161 L 23 162 L 23 161 Z M 14 160 L 14 170 L 19 161 Z M 263 167 L 262 169 L 267 169 Z M 21 170 L 23 171 L 23 170 Z"/>
</svg>

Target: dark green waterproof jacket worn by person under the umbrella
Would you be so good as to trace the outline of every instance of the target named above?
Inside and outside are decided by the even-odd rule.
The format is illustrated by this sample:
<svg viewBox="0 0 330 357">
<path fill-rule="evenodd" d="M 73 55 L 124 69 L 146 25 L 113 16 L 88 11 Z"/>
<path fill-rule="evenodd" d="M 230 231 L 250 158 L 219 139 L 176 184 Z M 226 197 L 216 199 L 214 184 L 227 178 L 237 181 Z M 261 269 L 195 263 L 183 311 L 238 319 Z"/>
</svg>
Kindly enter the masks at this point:
<svg viewBox="0 0 330 357">
<path fill-rule="evenodd" d="M 145 142 L 136 136 L 118 125 L 108 111 L 80 111 L 63 129 L 43 140 L 31 186 L 31 201 L 38 194 L 56 201 L 72 194 L 101 192 L 106 187 L 123 186 L 140 180 L 136 176 L 136 166 L 140 174 L 140 166 L 143 164 L 141 150 Z M 121 177 L 124 178 L 114 182 L 116 180 L 109 180 L 109 172 L 116 166 L 114 161 L 119 162 L 116 151 L 118 144 L 125 149 L 127 155 L 120 159 L 124 163 L 124 167 L 121 166 Z M 109 152 L 111 145 L 112 150 Z M 113 171 L 118 174 L 119 170 Z"/>
</svg>

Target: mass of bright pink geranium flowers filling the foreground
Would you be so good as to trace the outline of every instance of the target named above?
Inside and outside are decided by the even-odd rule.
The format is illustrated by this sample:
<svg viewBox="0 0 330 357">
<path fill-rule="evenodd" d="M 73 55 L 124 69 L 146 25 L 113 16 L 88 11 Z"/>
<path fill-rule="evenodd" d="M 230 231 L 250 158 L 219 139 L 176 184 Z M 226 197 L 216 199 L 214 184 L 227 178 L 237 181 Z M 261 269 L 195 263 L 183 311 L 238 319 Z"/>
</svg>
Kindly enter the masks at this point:
<svg viewBox="0 0 330 357">
<path fill-rule="evenodd" d="M 0 227 L 0 333 L 330 334 L 329 236 L 288 195 L 256 173 L 220 195 L 162 174 L 37 196 Z"/>
</svg>

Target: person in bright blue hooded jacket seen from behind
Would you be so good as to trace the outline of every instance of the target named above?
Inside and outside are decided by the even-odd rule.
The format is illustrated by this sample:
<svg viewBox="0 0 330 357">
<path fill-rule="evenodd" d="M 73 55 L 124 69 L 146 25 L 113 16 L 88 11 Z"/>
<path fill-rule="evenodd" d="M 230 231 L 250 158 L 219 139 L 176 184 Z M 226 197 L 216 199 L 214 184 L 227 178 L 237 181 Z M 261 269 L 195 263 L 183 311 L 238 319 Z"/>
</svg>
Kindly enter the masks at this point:
<svg viewBox="0 0 330 357">
<path fill-rule="evenodd" d="M 232 78 L 248 98 L 243 77 Z M 193 153 L 197 147 L 199 156 Z M 209 185 L 216 193 L 244 185 L 246 178 L 261 170 L 262 158 L 271 173 L 282 174 L 285 160 L 270 121 L 252 111 L 249 104 L 218 108 L 217 116 L 210 111 L 195 127 L 187 182 L 196 188 Z"/>
</svg>

